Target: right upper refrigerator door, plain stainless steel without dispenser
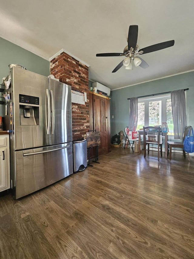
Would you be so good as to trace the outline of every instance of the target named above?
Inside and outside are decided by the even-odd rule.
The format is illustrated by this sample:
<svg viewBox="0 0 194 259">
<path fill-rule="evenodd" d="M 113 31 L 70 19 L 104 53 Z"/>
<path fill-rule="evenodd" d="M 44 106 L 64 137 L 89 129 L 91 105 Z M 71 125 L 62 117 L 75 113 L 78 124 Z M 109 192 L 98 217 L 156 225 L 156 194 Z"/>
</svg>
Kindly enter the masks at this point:
<svg viewBox="0 0 194 259">
<path fill-rule="evenodd" d="M 72 141 L 71 87 L 49 78 L 51 95 L 51 145 Z"/>
</svg>

